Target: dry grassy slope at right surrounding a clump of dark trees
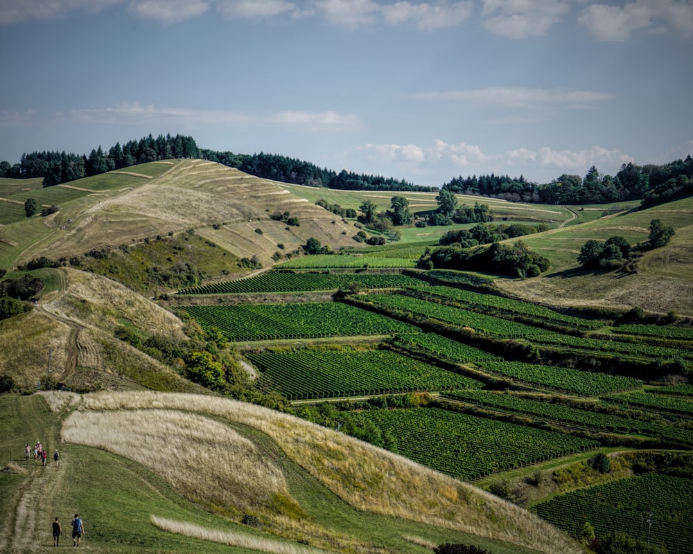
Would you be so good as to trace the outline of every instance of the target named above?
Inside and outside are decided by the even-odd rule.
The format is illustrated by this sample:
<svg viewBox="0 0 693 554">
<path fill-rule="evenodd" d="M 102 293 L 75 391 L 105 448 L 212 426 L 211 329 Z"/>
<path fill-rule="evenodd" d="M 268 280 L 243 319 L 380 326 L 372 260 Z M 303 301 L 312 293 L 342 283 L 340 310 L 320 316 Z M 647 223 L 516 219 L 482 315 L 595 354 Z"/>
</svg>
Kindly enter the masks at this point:
<svg viewBox="0 0 693 554">
<path fill-rule="evenodd" d="M 525 281 L 498 280 L 505 292 L 552 305 L 604 305 L 628 310 L 693 314 L 693 197 L 643 211 L 613 215 L 584 225 L 547 231 L 525 238 L 536 251 L 550 258 L 548 273 Z M 661 219 L 676 235 L 663 248 L 649 251 L 638 262 L 638 273 L 579 270 L 577 254 L 589 239 L 614 235 L 631 244 L 644 242 L 649 222 Z"/>
</svg>

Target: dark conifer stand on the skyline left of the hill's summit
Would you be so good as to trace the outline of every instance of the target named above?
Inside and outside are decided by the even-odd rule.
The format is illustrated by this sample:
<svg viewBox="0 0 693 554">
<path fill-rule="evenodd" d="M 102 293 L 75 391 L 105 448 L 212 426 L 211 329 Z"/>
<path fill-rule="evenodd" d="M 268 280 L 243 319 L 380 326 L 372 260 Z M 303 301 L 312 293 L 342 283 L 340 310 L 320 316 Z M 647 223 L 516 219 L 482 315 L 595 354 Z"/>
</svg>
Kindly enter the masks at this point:
<svg viewBox="0 0 693 554">
<path fill-rule="evenodd" d="M 148 161 L 198 157 L 200 151 L 191 136 L 160 134 L 155 139 L 150 134 L 139 141 L 128 141 L 122 146 L 116 143 L 107 152 L 99 146 L 96 150 L 92 149 L 88 157 L 85 154 L 67 154 L 64 151 L 22 154 L 21 161 L 14 166 L 8 161 L 0 162 L 0 177 L 43 177 L 45 187 Z"/>
</svg>

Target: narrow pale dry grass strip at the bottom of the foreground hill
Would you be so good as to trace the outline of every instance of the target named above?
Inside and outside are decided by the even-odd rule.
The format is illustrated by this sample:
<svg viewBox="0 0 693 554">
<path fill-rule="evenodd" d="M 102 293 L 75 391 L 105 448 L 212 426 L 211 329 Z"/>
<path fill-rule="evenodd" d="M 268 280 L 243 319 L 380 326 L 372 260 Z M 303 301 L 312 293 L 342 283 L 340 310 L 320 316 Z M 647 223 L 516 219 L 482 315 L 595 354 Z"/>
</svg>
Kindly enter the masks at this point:
<svg viewBox="0 0 693 554">
<path fill-rule="evenodd" d="M 320 554 L 326 551 L 310 546 L 299 546 L 288 542 L 279 542 L 265 537 L 255 537 L 245 533 L 234 533 L 232 531 L 218 531 L 207 529 L 199 525 L 188 524 L 186 521 L 175 521 L 152 515 L 152 523 L 159 529 L 168 533 L 177 533 L 186 537 L 194 537 L 205 541 L 238 546 L 238 548 L 248 548 L 267 552 L 270 554 Z"/>
</svg>

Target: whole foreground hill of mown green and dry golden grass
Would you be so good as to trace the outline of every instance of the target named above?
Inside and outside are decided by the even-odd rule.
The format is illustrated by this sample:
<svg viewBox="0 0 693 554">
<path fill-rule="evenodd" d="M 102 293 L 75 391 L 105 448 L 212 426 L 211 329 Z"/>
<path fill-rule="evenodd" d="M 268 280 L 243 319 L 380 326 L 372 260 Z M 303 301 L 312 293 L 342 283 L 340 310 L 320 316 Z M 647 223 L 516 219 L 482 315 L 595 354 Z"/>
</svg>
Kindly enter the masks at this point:
<svg viewBox="0 0 693 554">
<path fill-rule="evenodd" d="M 520 508 L 348 437 L 325 440 L 334 432 L 257 406 L 152 393 L 45 398 L 55 411 L 40 395 L 0 397 L 4 452 L 16 460 L 40 439 L 61 453 L 58 467 L 15 461 L 16 470 L 0 474 L 3 552 L 49 546 L 50 521 L 57 515 L 66 529 L 79 512 L 84 548 L 96 553 L 216 553 L 228 544 L 282 554 L 309 546 L 426 552 L 410 537 L 498 554 L 579 553 Z M 340 455 L 354 448 L 358 456 Z M 331 460 L 334 471 L 325 471 Z M 414 488 L 402 489 L 404 475 Z M 263 530 L 239 523 L 249 512 Z M 15 529 L 22 536 L 8 533 Z"/>
</svg>

